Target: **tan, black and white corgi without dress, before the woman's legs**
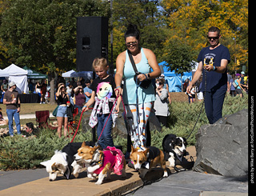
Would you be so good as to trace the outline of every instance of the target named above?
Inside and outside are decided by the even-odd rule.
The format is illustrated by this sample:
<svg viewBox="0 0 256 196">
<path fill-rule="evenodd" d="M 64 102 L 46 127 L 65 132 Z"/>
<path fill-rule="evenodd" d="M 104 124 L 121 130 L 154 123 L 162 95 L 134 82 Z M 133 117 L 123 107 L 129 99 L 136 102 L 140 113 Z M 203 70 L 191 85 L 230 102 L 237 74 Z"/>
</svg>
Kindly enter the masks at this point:
<svg viewBox="0 0 256 196">
<path fill-rule="evenodd" d="M 134 165 L 134 169 L 139 171 L 139 177 L 142 179 L 155 166 L 161 166 L 164 170 L 162 177 L 168 177 L 164 154 L 157 147 L 150 146 L 145 150 L 138 150 L 131 146 L 130 160 Z"/>
</svg>

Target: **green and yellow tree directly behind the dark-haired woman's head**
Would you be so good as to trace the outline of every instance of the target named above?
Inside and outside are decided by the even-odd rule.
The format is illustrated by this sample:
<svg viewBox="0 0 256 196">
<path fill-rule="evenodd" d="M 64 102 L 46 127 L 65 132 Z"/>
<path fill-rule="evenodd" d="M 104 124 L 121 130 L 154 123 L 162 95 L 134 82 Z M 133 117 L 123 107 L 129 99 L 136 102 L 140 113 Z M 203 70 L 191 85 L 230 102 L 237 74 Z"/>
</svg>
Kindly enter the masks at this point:
<svg viewBox="0 0 256 196">
<path fill-rule="evenodd" d="M 159 0 L 115 0 L 113 2 L 114 59 L 126 50 L 124 44 L 126 27 L 134 24 L 141 32 L 141 46 L 153 50 L 158 60 L 162 60 L 166 26 L 162 25 L 159 6 Z"/>
</svg>

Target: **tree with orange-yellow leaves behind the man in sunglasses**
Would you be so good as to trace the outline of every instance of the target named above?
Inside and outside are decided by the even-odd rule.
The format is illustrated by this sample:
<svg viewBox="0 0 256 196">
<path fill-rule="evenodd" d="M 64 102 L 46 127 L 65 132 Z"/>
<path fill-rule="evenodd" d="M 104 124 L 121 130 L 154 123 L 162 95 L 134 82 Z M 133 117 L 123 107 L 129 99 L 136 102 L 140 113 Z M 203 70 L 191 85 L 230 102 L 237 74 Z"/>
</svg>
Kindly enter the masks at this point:
<svg viewBox="0 0 256 196">
<path fill-rule="evenodd" d="M 207 45 L 206 34 L 210 26 L 222 30 L 221 42 L 230 50 L 229 68 L 248 61 L 248 1 L 247 0 L 163 0 L 162 6 L 169 16 L 168 40 L 186 39 L 198 54 Z"/>
</svg>

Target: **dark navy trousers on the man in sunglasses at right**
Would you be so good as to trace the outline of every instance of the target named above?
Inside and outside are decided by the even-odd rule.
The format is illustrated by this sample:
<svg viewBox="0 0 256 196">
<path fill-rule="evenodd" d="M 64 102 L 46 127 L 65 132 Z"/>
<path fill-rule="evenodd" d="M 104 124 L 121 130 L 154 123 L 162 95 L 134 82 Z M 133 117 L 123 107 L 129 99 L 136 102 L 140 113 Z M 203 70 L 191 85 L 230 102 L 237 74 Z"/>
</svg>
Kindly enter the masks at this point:
<svg viewBox="0 0 256 196">
<path fill-rule="evenodd" d="M 222 118 L 222 106 L 225 94 L 226 90 L 206 91 L 205 109 L 210 124 L 214 124 L 214 122 L 217 122 L 218 119 Z"/>
</svg>

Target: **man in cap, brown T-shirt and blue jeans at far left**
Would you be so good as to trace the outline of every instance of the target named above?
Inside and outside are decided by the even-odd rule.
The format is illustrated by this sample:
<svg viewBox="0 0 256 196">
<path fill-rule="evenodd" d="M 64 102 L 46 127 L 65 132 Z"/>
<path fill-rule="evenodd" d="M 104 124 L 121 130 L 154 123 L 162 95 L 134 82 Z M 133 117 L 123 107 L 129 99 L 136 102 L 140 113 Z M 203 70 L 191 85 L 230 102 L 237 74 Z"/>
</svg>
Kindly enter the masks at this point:
<svg viewBox="0 0 256 196">
<path fill-rule="evenodd" d="M 19 119 L 19 112 L 21 111 L 21 101 L 18 97 L 15 82 L 9 83 L 9 90 L 6 91 L 3 97 L 3 104 L 6 105 L 6 114 L 8 117 L 9 134 L 14 137 L 13 118 L 16 124 L 17 133 L 21 134 L 21 125 Z"/>
</svg>

